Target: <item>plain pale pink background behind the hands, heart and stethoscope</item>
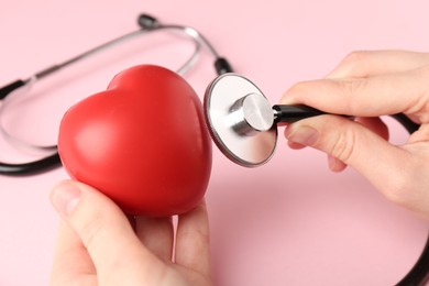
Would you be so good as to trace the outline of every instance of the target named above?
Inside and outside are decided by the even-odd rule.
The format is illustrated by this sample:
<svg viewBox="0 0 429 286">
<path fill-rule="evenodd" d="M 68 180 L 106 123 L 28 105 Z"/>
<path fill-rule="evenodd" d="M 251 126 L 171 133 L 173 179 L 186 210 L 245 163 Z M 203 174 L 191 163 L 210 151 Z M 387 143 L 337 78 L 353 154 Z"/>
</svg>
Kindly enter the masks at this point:
<svg viewBox="0 0 429 286">
<path fill-rule="evenodd" d="M 133 31 L 136 15 L 148 12 L 200 30 L 274 103 L 350 51 L 429 51 L 428 9 L 426 0 L 2 0 L 0 82 Z M 9 118 L 23 135 L 55 142 L 64 110 L 105 89 L 117 72 L 142 63 L 177 67 L 189 45 L 166 47 L 170 40 L 150 36 L 75 67 L 56 84 L 41 82 L 34 105 L 16 106 Z M 201 59 L 187 75 L 199 95 L 215 76 L 211 58 Z M 392 127 L 394 142 L 403 142 L 405 132 Z M 1 160 L 21 160 L 4 142 L 1 150 Z M 64 178 L 62 168 L 0 176 L 1 286 L 48 284 L 58 219 L 47 197 Z M 387 202 L 353 170 L 332 174 L 323 154 L 292 151 L 282 136 L 274 160 L 255 169 L 215 150 L 207 201 L 216 285 L 393 285 L 417 260 L 428 232 L 427 222 Z"/>
</svg>

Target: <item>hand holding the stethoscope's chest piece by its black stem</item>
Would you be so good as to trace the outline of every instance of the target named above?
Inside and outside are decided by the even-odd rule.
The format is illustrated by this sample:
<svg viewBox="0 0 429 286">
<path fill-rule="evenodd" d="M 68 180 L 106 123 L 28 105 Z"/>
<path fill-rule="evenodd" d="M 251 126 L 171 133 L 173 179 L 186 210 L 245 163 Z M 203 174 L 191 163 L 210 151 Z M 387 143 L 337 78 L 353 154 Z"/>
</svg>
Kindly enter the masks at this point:
<svg viewBox="0 0 429 286">
<path fill-rule="evenodd" d="M 429 219 L 429 54 L 351 53 L 326 79 L 292 87 L 280 103 L 355 116 L 300 120 L 285 136 L 293 148 L 326 152 L 332 170 L 352 166 L 387 198 Z M 378 117 L 400 112 L 421 127 L 395 146 Z"/>
</svg>

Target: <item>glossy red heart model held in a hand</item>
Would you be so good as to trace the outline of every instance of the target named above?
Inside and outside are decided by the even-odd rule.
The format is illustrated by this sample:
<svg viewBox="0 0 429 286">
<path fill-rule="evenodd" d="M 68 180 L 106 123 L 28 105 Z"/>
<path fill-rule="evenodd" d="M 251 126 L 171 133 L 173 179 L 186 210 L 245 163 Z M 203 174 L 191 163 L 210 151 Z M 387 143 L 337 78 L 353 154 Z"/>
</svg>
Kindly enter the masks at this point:
<svg viewBox="0 0 429 286">
<path fill-rule="evenodd" d="M 70 175 L 127 213 L 184 213 L 202 199 L 211 141 L 201 101 L 176 73 L 142 65 L 64 116 L 58 152 Z"/>
</svg>

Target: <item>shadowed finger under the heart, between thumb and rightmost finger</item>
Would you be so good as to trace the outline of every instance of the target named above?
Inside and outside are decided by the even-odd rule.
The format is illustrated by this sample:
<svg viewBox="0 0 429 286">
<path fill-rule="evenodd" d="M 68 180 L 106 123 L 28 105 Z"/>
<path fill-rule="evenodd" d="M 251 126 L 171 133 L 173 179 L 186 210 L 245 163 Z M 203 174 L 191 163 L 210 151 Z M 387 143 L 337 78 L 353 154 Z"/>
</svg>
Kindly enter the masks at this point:
<svg viewBox="0 0 429 286">
<path fill-rule="evenodd" d="M 173 220 L 172 218 L 135 218 L 135 233 L 140 241 L 165 262 L 172 261 Z"/>
</svg>

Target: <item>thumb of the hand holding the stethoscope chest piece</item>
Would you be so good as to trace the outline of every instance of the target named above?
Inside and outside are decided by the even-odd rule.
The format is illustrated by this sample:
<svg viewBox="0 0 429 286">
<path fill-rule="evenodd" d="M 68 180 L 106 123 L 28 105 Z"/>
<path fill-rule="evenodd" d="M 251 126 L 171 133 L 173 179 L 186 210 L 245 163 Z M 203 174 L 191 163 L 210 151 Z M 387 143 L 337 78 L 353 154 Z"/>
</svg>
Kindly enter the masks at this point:
<svg viewBox="0 0 429 286">
<path fill-rule="evenodd" d="M 362 124 L 336 116 L 320 116 L 287 127 L 293 143 L 311 146 L 331 155 L 362 174 L 387 198 L 400 201 L 400 186 L 408 175 L 404 164 L 410 154 L 389 144 Z"/>
</svg>

